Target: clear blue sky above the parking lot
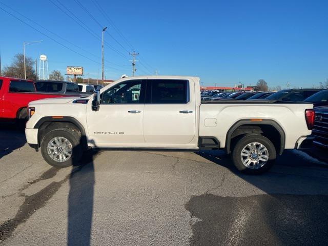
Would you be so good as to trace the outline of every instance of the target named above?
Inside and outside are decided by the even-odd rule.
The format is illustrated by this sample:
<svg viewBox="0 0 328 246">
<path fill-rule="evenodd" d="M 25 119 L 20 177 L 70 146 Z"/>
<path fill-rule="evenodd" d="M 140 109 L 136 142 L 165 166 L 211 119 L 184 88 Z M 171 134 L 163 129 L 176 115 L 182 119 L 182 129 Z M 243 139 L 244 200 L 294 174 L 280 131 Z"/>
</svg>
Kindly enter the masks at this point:
<svg viewBox="0 0 328 246">
<path fill-rule="evenodd" d="M 58 6 L 57 0 L 51 0 Z M 1 13 L 2 65 L 22 52 L 48 56 L 49 69 L 65 73 L 66 66 L 83 66 L 85 77 L 101 77 L 100 41 L 61 12 L 50 0 L 0 0 L 0 7 L 53 37 L 50 38 Z M 58 0 L 100 37 L 100 26 L 77 0 Z M 105 1 L 101 6 L 140 55 L 137 75 L 199 76 L 203 85 L 233 86 L 239 81 L 254 85 L 260 78 L 269 86 L 312 87 L 328 78 L 328 1 Z M 101 26 L 107 26 L 105 76 L 131 75 L 128 51 L 132 47 L 115 31 L 92 0 L 78 0 Z M 17 12 L 46 27 L 70 43 L 40 28 Z M 70 14 L 72 16 L 72 14 Z M 111 34 L 118 43 L 109 35 Z M 82 48 L 83 50 L 77 48 Z M 115 64 L 115 65 L 114 65 Z M 98 72 L 99 71 L 99 72 Z"/>
</svg>

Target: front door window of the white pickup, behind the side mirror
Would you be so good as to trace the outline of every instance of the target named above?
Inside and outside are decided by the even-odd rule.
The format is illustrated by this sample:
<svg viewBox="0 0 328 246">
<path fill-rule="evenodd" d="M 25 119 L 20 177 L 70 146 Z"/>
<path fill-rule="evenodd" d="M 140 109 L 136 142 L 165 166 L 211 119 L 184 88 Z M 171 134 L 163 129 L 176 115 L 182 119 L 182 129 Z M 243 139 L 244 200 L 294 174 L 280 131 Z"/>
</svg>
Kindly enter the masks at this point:
<svg viewBox="0 0 328 246">
<path fill-rule="evenodd" d="M 101 104 L 144 103 L 144 87 L 142 80 L 126 81 L 101 94 Z"/>
</svg>

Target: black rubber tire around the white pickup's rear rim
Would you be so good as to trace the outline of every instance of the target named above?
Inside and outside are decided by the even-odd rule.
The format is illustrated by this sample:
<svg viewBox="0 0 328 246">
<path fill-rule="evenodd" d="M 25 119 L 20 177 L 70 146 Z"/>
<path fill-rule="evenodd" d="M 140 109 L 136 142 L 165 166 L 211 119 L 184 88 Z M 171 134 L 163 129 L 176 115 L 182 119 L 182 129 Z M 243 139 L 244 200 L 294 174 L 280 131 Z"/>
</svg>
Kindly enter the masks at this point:
<svg viewBox="0 0 328 246">
<path fill-rule="evenodd" d="M 269 160 L 262 167 L 258 169 L 252 169 L 245 166 L 241 160 L 241 151 L 245 146 L 247 146 L 252 142 L 258 142 L 262 144 L 263 146 L 265 146 L 265 148 L 267 148 L 269 153 Z M 276 159 L 276 149 L 272 144 L 272 142 L 267 137 L 258 134 L 246 135 L 241 137 L 236 142 L 234 149 L 232 151 L 231 158 L 234 166 L 238 169 L 238 171 L 248 174 L 260 174 L 260 173 L 267 172 L 274 164 Z"/>
</svg>

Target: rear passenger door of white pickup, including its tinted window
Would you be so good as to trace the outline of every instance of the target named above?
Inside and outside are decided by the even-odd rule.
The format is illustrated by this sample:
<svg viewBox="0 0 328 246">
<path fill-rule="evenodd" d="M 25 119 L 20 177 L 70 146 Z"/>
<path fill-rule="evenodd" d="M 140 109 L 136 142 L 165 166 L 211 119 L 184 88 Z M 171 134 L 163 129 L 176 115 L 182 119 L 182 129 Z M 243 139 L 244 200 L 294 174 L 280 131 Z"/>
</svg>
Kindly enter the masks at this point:
<svg viewBox="0 0 328 246">
<path fill-rule="evenodd" d="M 191 85 L 194 86 L 189 80 L 182 79 L 148 80 L 144 110 L 146 144 L 178 147 L 194 139 L 196 103 L 195 96 L 190 95 Z"/>
</svg>

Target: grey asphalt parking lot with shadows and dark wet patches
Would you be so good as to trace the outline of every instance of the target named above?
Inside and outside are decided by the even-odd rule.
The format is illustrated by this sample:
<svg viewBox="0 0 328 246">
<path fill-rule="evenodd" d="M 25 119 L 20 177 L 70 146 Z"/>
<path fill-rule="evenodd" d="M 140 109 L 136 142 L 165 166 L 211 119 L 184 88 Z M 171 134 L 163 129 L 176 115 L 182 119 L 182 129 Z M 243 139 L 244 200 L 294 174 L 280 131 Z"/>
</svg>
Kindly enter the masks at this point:
<svg viewBox="0 0 328 246">
<path fill-rule="evenodd" d="M 328 244 L 324 150 L 285 151 L 259 176 L 221 151 L 88 152 L 55 169 L 0 129 L 4 245 Z"/>
</svg>

